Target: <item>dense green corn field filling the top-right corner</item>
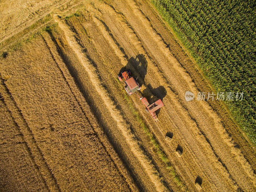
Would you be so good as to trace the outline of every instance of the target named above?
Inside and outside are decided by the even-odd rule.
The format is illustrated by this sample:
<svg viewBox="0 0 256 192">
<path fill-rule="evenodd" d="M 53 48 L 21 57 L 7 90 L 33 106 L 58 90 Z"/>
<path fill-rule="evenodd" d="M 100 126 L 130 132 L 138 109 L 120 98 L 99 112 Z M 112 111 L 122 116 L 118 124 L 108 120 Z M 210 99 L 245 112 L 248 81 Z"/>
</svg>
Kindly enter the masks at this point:
<svg viewBox="0 0 256 192">
<path fill-rule="evenodd" d="M 224 102 L 256 144 L 255 1 L 152 0 L 219 92 L 244 92 Z"/>
</svg>

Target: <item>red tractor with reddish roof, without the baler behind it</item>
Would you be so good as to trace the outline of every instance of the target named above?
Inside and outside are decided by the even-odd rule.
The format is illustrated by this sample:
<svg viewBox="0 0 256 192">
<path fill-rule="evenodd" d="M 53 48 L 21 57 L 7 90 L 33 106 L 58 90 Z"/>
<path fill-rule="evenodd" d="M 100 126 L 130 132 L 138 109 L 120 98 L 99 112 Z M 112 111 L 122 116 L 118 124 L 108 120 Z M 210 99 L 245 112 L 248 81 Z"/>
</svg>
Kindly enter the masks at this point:
<svg viewBox="0 0 256 192">
<path fill-rule="evenodd" d="M 128 95 L 131 95 L 132 93 L 141 89 L 138 82 L 132 77 L 131 71 L 129 69 L 127 71 L 123 71 L 117 77 L 120 81 L 123 81 L 122 78 L 124 78 L 124 89 Z"/>
</svg>

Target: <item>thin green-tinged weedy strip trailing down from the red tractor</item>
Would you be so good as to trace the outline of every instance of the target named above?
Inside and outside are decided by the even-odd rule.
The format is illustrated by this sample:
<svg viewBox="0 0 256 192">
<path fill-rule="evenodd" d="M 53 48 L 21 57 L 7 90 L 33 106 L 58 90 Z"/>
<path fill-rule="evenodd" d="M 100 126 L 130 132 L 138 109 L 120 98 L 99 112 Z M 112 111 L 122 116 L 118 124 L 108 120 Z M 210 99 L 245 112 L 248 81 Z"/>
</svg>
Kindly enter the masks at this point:
<svg viewBox="0 0 256 192">
<path fill-rule="evenodd" d="M 117 78 L 116 78 L 116 82 L 117 84 L 119 84 L 120 89 L 123 89 L 123 87 L 120 86 L 120 82 Z M 167 172 L 171 175 L 171 178 L 173 178 L 174 183 L 177 185 L 178 188 L 180 188 L 181 191 L 187 191 L 186 186 L 184 186 L 184 184 L 182 183 L 182 180 L 180 179 L 180 176 L 175 172 L 170 160 L 168 159 L 164 151 L 161 149 L 160 144 L 158 143 L 158 141 L 155 139 L 154 135 L 148 128 L 147 124 L 143 120 L 143 117 L 140 115 L 138 110 L 133 106 L 133 101 L 131 97 L 127 95 L 124 89 L 122 94 L 126 101 L 125 103 L 127 104 L 127 106 L 129 106 L 132 114 L 137 118 L 137 121 L 140 124 L 140 128 L 143 129 L 144 133 L 149 137 L 151 144 L 154 146 L 157 156 L 159 156 L 160 159 L 166 165 L 165 168 L 167 169 Z"/>
</svg>

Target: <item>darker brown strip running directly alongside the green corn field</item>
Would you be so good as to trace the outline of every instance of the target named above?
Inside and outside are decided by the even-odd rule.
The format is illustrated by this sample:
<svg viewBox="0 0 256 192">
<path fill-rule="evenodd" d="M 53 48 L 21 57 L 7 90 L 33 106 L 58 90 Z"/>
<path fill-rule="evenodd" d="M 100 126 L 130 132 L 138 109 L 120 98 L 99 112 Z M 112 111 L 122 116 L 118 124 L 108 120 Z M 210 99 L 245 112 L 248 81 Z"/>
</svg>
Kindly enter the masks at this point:
<svg viewBox="0 0 256 192">
<path fill-rule="evenodd" d="M 161 17 L 154 11 L 154 8 L 152 5 L 143 2 L 142 5 L 140 5 L 140 11 L 144 12 L 143 15 L 148 19 L 150 22 L 152 28 L 156 31 L 159 36 L 163 39 L 165 44 L 168 45 L 170 52 L 173 53 L 173 56 L 180 62 L 182 67 L 189 72 L 189 76 L 194 80 L 194 83 L 199 88 L 199 90 L 212 90 L 211 86 L 209 85 L 209 82 L 207 82 L 203 76 L 201 76 L 200 73 L 197 73 L 198 69 L 194 65 L 195 61 L 191 61 L 188 57 L 188 53 L 184 52 L 184 48 L 179 45 L 176 39 L 172 37 L 169 33 L 169 29 L 167 29 L 164 26 L 164 21 L 161 19 Z M 193 63 L 194 62 L 194 63 Z M 210 87 L 210 88 L 209 88 Z M 225 124 L 223 124 L 223 127 L 227 129 L 228 132 L 232 133 L 232 136 L 236 140 L 236 143 L 239 143 L 241 147 L 241 152 L 244 154 L 247 161 L 252 165 L 252 168 L 255 170 L 255 161 L 252 159 L 252 156 L 255 156 L 255 150 L 253 151 L 253 148 L 246 148 L 244 149 L 243 146 L 246 146 L 248 143 L 245 141 L 245 138 L 239 137 L 240 134 L 236 135 L 237 131 L 237 125 L 233 122 L 231 118 L 227 118 L 227 113 L 223 111 L 223 104 L 218 102 L 211 102 L 208 101 L 209 105 L 215 110 L 215 112 L 218 114 L 218 116 L 222 119 Z M 231 122 L 232 121 L 232 122 Z M 232 125 L 232 126 L 231 126 Z M 236 128 L 235 128 L 236 127 Z M 239 138 L 237 138 L 239 137 Z M 254 148 L 255 149 L 255 148 Z M 250 155 L 249 155 L 250 154 Z"/>
</svg>

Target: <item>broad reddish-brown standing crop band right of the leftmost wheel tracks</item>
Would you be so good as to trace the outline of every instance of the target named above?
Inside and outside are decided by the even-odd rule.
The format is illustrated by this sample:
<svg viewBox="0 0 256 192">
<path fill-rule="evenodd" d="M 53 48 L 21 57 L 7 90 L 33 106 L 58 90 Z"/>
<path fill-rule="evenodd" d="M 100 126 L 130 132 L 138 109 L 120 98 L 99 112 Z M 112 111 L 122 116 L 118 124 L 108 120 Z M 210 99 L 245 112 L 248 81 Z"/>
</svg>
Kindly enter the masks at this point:
<svg viewBox="0 0 256 192">
<path fill-rule="evenodd" d="M 122 163 L 44 38 L 10 57 L 1 63 L 12 74 L 1 73 L 1 93 L 48 190 L 131 191 Z"/>
</svg>

